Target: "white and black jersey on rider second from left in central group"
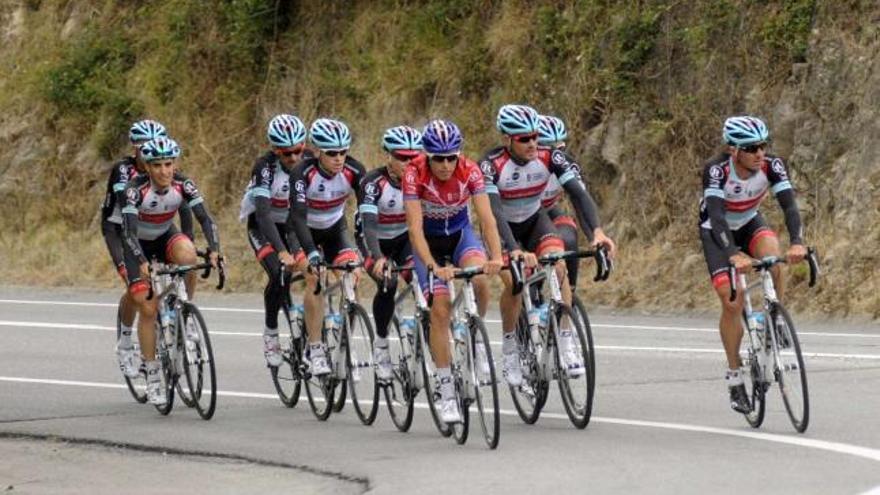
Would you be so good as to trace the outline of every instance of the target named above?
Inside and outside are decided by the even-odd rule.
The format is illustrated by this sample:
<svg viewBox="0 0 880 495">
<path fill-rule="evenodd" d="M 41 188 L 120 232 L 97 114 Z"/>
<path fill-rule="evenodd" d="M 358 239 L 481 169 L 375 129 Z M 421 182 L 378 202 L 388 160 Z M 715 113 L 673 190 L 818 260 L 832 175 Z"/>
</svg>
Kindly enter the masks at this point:
<svg viewBox="0 0 880 495">
<path fill-rule="evenodd" d="M 358 191 L 365 175 L 364 166 L 350 156 L 345 157 L 342 171 L 333 176 L 321 168 L 318 158 L 303 160 L 293 168 L 288 227 L 306 253 L 317 248 L 313 230 L 328 231 L 344 219 L 345 201 Z M 352 241 L 344 244 L 346 250 L 354 248 Z"/>
</svg>

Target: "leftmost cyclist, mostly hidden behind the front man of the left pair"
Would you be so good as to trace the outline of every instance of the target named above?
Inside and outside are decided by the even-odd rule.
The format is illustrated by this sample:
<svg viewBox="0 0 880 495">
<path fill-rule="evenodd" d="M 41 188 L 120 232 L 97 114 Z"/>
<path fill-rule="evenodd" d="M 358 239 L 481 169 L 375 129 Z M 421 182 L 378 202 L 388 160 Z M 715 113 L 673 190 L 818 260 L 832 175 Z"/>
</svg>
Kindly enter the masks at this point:
<svg viewBox="0 0 880 495">
<path fill-rule="evenodd" d="M 104 204 L 101 207 L 101 234 L 110 252 L 110 258 L 116 267 L 116 272 L 122 278 L 126 287 L 128 278 L 125 272 L 125 258 L 122 246 L 122 212 L 120 204 L 124 203 L 125 185 L 138 173 L 144 171 L 144 163 L 140 156 L 140 147 L 147 141 L 167 136 L 165 126 L 155 120 L 140 120 L 132 124 L 128 131 L 128 139 L 132 145 L 132 154 L 113 164 L 110 177 L 107 179 L 107 191 L 104 195 Z M 192 214 L 189 208 L 180 210 L 181 229 L 192 237 Z M 126 290 L 119 299 L 120 308 L 120 333 L 116 342 L 116 357 L 119 368 L 129 378 L 137 377 L 140 373 L 140 356 L 134 352 L 131 341 L 131 330 L 134 326 L 136 308 L 131 301 L 131 296 Z"/>
</svg>

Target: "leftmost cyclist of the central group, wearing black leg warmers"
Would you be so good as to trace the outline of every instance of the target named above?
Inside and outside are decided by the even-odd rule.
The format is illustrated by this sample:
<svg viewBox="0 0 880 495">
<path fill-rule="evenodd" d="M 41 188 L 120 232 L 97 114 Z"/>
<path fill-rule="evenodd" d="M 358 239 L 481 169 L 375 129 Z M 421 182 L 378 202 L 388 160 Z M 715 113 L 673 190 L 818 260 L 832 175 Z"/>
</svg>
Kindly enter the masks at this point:
<svg viewBox="0 0 880 495">
<path fill-rule="evenodd" d="M 263 290 L 263 355 L 269 366 L 277 367 L 282 361 L 278 311 L 290 290 L 289 278 L 282 278 L 281 267 L 292 269 L 294 254 L 300 253 L 299 244 L 289 244 L 296 237 L 288 236 L 287 231 L 290 173 L 303 156 L 306 128 L 298 117 L 280 114 L 269 121 L 266 135 L 272 149 L 254 164 L 239 219 L 247 220 L 248 242 L 268 277 Z"/>
</svg>

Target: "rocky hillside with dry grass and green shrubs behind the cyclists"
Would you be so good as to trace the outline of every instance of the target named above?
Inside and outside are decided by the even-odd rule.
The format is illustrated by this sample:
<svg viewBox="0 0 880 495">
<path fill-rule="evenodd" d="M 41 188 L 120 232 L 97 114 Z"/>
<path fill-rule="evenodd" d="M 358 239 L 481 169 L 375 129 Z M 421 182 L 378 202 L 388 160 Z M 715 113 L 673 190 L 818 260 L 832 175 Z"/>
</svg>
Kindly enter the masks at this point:
<svg viewBox="0 0 880 495">
<path fill-rule="evenodd" d="M 867 0 L 3 2 L 0 278 L 118 284 L 97 205 L 133 119 L 181 142 L 238 290 L 262 284 L 235 217 L 272 114 L 338 116 L 375 165 L 386 126 L 451 118 L 478 155 L 499 138 L 496 109 L 528 102 L 568 123 L 621 246 L 612 280 L 583 284 L 596 303 L 716 307 L 701 163 L 747 112 L 788 159 L 824 261 L 811 292 L 791 270 L 792 304 L 877 318 L 878 26 Z"/>
</svg>

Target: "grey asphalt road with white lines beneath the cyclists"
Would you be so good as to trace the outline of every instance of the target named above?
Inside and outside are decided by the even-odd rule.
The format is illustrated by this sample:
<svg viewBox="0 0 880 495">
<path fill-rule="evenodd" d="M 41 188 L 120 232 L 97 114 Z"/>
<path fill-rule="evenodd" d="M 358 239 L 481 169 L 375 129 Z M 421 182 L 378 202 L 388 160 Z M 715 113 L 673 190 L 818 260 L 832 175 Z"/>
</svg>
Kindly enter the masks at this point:
<svg viewBox="0 0 880 495">
<path fill-rule="evenodd" d="M 880 327 L 799 322 L 811 423 L 778 390 L 761 429 L 731 412 L 715 318 L 593 312 L 593 419 L 568 422 L 551 388 L 523 424 L 502 395 L 501 443 L 441 438 L 416 411 L 317 421 L 285 408 L 262 357 L 261 296 L 198 302 L 222 391 L 211 421 L 134 403 L 113 354 L 115 292 L 0 288 L 0 490 L 10 493 L 875 493 L 880 494 Z M 498 340 L 497 313 L 489 331 Z M 795 321 L 798 322 L 797 315 Z M 420 398 L 420 400 L 423 400 Z"/>
</svg>

